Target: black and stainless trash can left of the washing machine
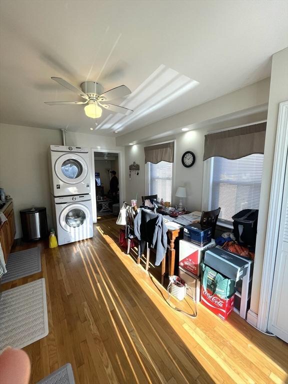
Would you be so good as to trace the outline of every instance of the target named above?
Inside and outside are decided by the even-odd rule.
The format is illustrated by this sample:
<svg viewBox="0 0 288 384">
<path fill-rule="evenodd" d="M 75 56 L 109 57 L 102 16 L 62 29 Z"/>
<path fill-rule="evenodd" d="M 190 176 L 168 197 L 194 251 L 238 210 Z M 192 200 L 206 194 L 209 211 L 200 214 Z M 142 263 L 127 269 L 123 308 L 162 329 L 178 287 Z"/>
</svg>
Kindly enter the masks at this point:
<svg viewBox="0 0 288 384">
<path fill-rule="evenodd" d="M 32 207 L 20 210 L 24 241 L 47 237 L 47 215 L 45 207 Z"/>
</svg>

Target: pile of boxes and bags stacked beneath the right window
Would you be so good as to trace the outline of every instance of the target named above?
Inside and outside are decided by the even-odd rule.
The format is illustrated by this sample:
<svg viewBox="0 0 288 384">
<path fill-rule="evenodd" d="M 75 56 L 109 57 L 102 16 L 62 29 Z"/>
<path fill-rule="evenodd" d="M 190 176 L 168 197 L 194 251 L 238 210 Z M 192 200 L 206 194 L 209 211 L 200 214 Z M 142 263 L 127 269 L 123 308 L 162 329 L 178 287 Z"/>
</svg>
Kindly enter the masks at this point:
<svg viewBox="0 0 288 384">
<path fill-rule="evenodd" d="M 258 211 L 244 209 L 233 218 L 233 231 L 211 238 L 211 228 L 199 223 L 184 227 L 179 241 L 179 278 L 186 294 L 221 319 L 232 310 L 246 318 Z"/>
</svg>

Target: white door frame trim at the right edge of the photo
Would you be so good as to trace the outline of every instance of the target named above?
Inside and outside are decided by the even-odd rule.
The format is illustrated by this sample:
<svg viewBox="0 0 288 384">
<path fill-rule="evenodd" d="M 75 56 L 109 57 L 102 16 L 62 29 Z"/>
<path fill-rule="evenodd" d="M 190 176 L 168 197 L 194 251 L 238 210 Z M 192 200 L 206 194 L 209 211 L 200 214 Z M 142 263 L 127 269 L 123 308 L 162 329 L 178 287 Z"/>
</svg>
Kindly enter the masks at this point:
<svg viewBox="0 0 288 384">
<path fill-rule="evenodd" d="M 267 219 L 265 252 L 260 289 L 260 299 L 257 317 L 257 328 L 266 331 L 271 304 L 271 294 L 276 262 L 278 233 L 282 208 L 282 197 L 286 159 L 288 155 L 288 101 L 279 103 L 277 134 L 275 142 L 273 173 L 271 181 L 271 193 L 269 212 Z"/>
</svg>

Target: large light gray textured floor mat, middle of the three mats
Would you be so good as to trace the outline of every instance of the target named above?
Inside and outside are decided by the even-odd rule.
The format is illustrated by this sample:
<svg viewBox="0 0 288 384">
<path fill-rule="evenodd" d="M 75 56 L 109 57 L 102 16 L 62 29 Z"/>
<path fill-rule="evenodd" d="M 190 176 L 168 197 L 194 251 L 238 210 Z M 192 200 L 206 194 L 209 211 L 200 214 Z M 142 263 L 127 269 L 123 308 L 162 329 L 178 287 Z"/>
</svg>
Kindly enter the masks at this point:
<svg viewBox="0 0 288 384">
<path fill-rule="evenodd" d="M 0 294 L 0 350 L 23 348 L 48 334 L 45 279 Z"/>
</svg>

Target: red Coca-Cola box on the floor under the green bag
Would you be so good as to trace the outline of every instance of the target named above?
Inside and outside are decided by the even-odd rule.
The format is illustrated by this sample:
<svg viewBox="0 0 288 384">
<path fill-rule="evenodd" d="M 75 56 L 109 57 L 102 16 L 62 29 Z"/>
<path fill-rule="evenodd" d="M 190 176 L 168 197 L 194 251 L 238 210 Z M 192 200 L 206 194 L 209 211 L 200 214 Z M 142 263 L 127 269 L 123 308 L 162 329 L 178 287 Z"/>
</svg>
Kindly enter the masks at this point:
<svg viewBox="0 0 288 384">
<path fill-rule="evenodd" d="M 220 298 L 208 289 L 201 287 L 201 303 L 222 320 L 226 320 L 234 308 L 234 294 L 230 298 Z"/>
</svg>

